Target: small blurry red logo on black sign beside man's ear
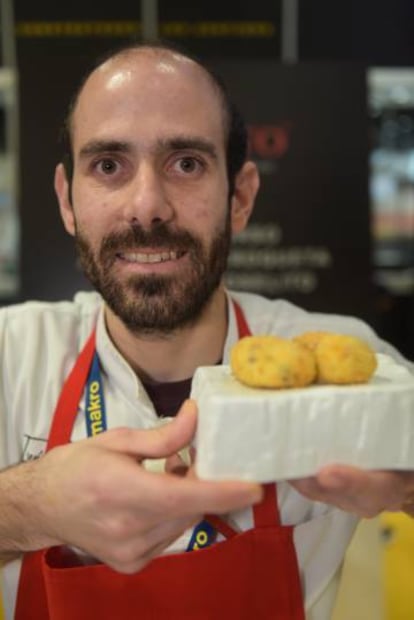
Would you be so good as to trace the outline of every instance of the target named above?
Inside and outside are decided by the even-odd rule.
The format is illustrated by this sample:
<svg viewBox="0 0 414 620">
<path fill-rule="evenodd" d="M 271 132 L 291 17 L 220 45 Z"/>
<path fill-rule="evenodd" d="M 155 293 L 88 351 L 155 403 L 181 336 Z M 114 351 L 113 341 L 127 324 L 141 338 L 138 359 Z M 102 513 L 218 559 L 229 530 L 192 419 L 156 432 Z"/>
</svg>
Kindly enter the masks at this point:
<svg viewBox="0 0 414 620">
<path fill-rule="evenodd" d="M 289 149 L 292 123 L 279 125 L 249 125 L 249 156 L 253 159 L 275 160 L 283 157 Z"/>
</svg>

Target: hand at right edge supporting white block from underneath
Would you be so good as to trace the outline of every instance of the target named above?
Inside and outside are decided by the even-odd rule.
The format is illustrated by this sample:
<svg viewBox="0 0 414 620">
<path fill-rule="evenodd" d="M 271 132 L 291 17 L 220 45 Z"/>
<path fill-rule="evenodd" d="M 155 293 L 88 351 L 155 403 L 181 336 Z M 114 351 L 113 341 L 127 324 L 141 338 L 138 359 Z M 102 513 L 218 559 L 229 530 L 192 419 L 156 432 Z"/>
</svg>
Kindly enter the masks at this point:
<svg viewBox="0 0 414 620">
<path fill-rule="evenodd" d="M 328 465 L 316 476 L 290 482 L 309 499 L 361 517 L 374 517 L 383 510 L 403 510 L 414 516 L 414 472 Z"/>
</svg>

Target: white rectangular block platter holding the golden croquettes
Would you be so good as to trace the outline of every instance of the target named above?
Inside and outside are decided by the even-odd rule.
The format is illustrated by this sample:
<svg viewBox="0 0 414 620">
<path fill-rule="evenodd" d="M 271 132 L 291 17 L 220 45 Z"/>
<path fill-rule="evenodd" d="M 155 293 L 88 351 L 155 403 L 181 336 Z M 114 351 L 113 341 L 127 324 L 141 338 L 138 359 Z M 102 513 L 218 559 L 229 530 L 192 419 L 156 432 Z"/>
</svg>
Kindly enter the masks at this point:
<svg viewBox="0 0 414 620">
<path fill-rule="evenodd" d="M 329 463 L 414 469 L 414 376 L 377 359 L 367 384 L 283 390 L 244 386 L 229 366 L 199 368 L 198 476 L 270 482 Z"/>
</svg>

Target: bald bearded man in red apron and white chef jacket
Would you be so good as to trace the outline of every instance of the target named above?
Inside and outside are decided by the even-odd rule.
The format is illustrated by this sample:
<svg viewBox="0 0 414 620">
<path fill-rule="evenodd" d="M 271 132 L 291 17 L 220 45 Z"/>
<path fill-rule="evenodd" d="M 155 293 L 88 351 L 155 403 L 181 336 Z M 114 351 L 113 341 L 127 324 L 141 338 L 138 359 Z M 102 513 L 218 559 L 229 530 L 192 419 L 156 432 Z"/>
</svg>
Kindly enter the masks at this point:
<svg viewBox="0 0 414 620">
<path fill-rule="evenodd" d="M 60 212 L 104 302 L 83 293 L 0 316 L 7 618 L 328 618 L 350 513 L 408 507 L 413 477 L 332 466 L 263 494 L 178 475 L 196 425 L 191 377 L 228 360 L 240 314 L 252 333 L 323 324 L 398 354 L 356 319 L 225 290 L 259 180 L 237 113 L 198 63 L 118 52 L 84 81 L 67 141 Z M 159 458 L 167 471 L 148 471 Z"/>
</svg>

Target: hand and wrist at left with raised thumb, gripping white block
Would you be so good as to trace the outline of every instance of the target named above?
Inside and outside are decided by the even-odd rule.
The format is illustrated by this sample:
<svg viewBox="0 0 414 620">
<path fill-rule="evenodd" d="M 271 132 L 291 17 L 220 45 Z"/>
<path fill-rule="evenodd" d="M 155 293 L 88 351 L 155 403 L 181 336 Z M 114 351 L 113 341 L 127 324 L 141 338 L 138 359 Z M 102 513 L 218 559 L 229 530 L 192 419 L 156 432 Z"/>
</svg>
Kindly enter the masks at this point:
<svg viewBox="0 0 414 620">
<path fill-rule="evenodd" d="M 174 455 L 191 442 L 196 407 L 184 403 L 169 424 L 114 429 L 54 448 L 0 474 L 0 553 L 67 544 L 132 573 L 205 513 L 261 499 L 247 482 L 208 482 L 146 471 L 146 458 Z"/>
</svg>

